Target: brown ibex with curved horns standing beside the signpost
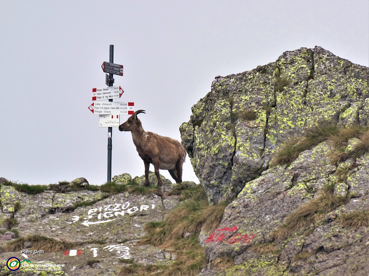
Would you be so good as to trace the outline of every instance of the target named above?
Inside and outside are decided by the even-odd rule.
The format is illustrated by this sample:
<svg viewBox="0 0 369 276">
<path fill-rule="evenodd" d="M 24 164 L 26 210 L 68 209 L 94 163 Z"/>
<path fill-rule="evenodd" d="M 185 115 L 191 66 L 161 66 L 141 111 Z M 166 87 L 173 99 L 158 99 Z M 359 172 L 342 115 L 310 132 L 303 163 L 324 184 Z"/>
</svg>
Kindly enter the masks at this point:
<svg viewBox="0 0 369 276">
<path fill-rule="evenodd" d="M 137 110 L 128 120 L 119 126 L 120 131 L 131 131 L 133 143 L 136 146 L 139 157 L 145 164 L 145 186 L 149 183 L 149 166 L 154 165 L 158 185 L 161 186 L 159 169 L 168 170 L 176 183 L 182 182 L 182 166 L 186 158 L 186 150 L 182 144 L 172 138 L 144 131 L 137 114 L 145 113 L 145 110 Z"/>
</svg>

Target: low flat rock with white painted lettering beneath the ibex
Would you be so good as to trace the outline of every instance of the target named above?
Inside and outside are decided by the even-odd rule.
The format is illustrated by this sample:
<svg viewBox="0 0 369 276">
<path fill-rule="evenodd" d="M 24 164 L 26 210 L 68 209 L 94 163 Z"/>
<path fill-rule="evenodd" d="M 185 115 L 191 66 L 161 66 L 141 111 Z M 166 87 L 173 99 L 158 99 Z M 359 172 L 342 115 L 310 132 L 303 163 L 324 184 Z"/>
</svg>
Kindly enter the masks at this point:
<svg viewBox="0 0 369 276">
<path fill-rule="evenodd" d="M 122 174 L 114 179 L 118 185 L 127 185 L 131 176 Z M 164 193 L 173 185 L 163 180 Z M 169 251 L 136 243 L 145 234 L 145 223 L 161 221 L 179 204 L 177 195 L 165 198 L 153 193 L 109 195 L 86 190 L 85 178 L 49 185 L 55 191 L 37 194 L 19 192 L 7 185 L 4 178 L 1 182 L 0 275 L 38 275 L 41 271 L 44 273 L 41 275 L 117 275 L 130 263 L 158 265 L 175 258 Z M 70 187 L 79 190 L 66 191 Z M 41 245 L 40 239 L 44 241 Z M 20 245 L 4 250 L 12 243 Z M 67 249 L 35 254 L 35 250 L 42 251 L 58 243 L 67 245 Z M 28 253 L 21 255 L 21 250 Z M 11 272 L 6 266 L 6 260 L 11 257 L 27 259 L 40 270 L 26 270 L 25 265 L 31 265 L 27 261 L 19 270 Z"/>
</svg>

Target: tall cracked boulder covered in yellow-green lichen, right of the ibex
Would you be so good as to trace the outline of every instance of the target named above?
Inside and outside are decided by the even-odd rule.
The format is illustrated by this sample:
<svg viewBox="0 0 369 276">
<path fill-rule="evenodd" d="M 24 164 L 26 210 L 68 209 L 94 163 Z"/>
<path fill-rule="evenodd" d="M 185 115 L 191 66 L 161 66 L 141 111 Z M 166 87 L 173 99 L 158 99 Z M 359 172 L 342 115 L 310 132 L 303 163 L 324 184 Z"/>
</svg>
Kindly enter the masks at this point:
<svg viewBox="0 0 369 276">
<path fill-rule="evenodd" d="M 254 70 L 215 78 L 180 127 L 208 200 L 232 199 L 268 169 L 287 138 L 322 122 L 367 125 L 368 68 L 321 47 L 284 52 Z"/>
</svg>

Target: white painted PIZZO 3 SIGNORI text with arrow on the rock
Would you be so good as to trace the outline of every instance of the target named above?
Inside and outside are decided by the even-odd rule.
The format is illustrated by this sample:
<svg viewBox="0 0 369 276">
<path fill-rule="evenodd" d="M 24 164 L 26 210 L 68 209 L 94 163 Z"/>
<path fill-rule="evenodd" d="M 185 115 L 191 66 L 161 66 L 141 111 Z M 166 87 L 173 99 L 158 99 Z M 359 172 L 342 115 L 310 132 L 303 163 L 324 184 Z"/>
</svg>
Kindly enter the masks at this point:
<svg viewBox="0 0 369 276">
<path fill-rule="evenodd" d="M 150 208 L 149 205 L 142 204 L 141 206 L 132 206 L 130 207 L 130 202 L 126 201 L 124 203 L 115 203 L 109 204 L 105 206 L 101 206 L 98 208 L 92 208 L 87 212 L 87 216 L 83 217 L 84 221 L 81 223 L 85 226 L 90 226 L 92 224 L 111 222 L 112 220 L 116 220 L 121 216 L 130 215 L 137 211 L 143 212 Z M 151 209 L 154 209 L 155 205 L 151 204 Z M 79 220 L 79 216 L 73 216 L 72 222 L 66 223 L 75 223 Z M 94 220 L 94 221 L 91 221 Z"/>
</svg>

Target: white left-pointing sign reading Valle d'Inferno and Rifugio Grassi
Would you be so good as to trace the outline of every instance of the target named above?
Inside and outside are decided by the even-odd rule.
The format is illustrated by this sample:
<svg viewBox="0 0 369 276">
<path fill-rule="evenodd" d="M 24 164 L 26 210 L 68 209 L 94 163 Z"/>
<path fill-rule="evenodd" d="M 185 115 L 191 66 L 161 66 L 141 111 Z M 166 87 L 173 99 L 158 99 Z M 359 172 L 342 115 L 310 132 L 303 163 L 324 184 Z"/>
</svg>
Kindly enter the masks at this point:
<svg viewBox="0 0 369 276">
<path fill-rule="evenodd" d="M 131 115 L 134 113 L 134 103 L 128 102 L 93 102 L 89 109 L 93 114 L 122 114 Z"/>
</svg>

